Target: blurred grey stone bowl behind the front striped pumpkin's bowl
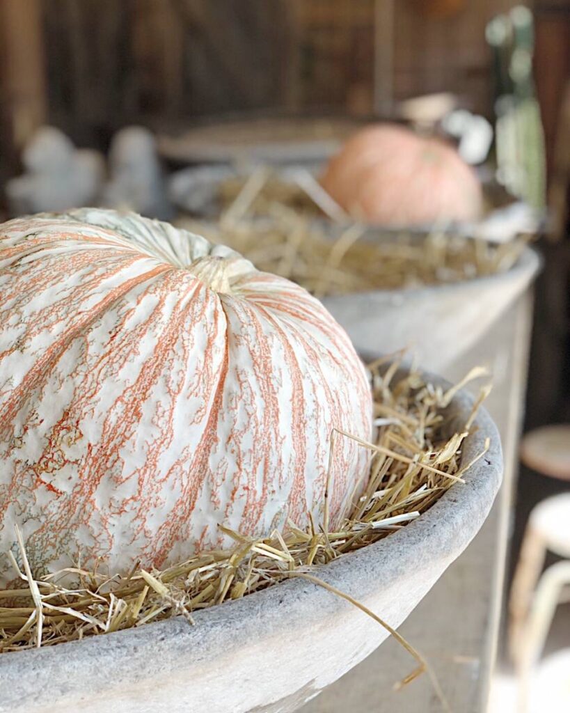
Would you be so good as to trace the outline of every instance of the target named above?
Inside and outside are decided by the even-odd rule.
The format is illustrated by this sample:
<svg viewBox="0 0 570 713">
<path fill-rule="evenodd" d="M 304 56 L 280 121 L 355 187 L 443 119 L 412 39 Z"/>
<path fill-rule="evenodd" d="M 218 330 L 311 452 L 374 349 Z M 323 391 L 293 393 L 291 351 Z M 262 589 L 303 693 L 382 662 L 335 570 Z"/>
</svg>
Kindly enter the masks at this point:
<svg viewBox="0 0 570 713">
<path fill-rule="evenodd" d="M 521 295 L 541 260 L 527 247 L 507 272 L 417 289 L 378 289 L 323 297 L 358 352 L 410 347 L 418 363 L 442 372 Z"/>
</svg>

